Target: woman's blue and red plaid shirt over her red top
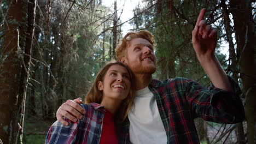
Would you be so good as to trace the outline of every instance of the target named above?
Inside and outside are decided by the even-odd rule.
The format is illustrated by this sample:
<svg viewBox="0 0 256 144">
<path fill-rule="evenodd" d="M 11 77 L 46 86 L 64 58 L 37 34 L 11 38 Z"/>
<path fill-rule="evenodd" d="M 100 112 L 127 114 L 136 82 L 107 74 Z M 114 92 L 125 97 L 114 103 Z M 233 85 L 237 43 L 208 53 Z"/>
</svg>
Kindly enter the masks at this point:
<svg viewBox="0 0 256 144">
<path fill-rule="evenodd" d="M 97 103 L 81 106 L 86 111 L 83 119 L 74 123 L 65 118 L 68 126 L 56 121 L 51 125 L 45 143 L 100 143 L 105 112 L 103 106 Z"/>
</svg>

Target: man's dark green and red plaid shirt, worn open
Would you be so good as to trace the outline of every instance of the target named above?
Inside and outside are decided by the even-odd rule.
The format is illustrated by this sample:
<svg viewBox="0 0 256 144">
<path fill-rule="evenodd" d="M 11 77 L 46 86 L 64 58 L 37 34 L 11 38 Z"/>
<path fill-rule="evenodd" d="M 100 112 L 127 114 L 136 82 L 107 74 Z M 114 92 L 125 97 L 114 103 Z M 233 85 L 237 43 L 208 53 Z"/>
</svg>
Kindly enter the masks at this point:
<svg viewBox="0 0 256 144">
<path fill-rule="evenodd" d="M 152 80 L 153 92 L 167 135 L 167 143 L 200 143 L 194 118 L 217 123 L 238 123 L 245 118 L 240 99 L 241 90 L 231 79 L 234 92 L 226 92 L 213 85 L 202 87 L 196 81 L 177 77 L 164 81 Z M 130 122 L 123 124 L 120 143 L 130 143 Z"/>
</svg>

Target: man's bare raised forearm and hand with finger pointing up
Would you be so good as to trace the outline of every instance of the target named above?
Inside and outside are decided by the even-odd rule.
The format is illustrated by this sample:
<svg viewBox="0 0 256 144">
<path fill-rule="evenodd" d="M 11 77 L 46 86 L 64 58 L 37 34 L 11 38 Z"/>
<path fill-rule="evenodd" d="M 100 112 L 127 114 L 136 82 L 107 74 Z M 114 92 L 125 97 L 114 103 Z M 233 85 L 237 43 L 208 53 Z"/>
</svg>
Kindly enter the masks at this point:
<svg viewBox="0 0 256 144">
<path fill-rule="evenodd" d="M 214 55 L 217 43 L 217 31 L 203 20 L 206 9 L 200 11 L 195 28 L 192 32 L 192 43 L 196 56 L 210 77 L 213 85 L 225 91 L 233 91 L 225 71 Z"/>
</svg>

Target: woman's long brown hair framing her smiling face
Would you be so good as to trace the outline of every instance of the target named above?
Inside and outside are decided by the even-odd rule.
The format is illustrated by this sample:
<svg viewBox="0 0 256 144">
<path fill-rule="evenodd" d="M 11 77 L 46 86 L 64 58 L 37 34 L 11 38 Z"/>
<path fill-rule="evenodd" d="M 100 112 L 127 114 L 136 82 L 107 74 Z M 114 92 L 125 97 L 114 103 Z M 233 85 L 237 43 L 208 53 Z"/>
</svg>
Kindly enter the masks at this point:
<svg viewBox="0 0 256 144">
<path fill-rule="evenodd" d="M 104 80 L 104 76 L 106 75 L 108 69 L 112 66 L 112 65 L 121 65 L 122 67 L 124 67 L 127 72 L 129 73 L 129 77 L 130 77 L 130 82 L 131 82 L 131 89 L 129 94 L 127 95 L 127 97 L 123 100 L 122 104 L 120 105 L 120 108 L 118 110 L 117 113 L 115 113 L 115 117 L 118 119 L 115 119 L 115 121 L 119 124 L 121 122 L 123 122 L 125 120 L 125 118 L 128 115 L 129 110 L 131 109 L 132 103 L 133 103 L 133 99 L 134 99 L 134 91 L 135 88 L 133 87 L 133 76 L 131 73 L 131 70 L 129 67 L 127 67 L 127 65 L 124 65 L 121 62 L 109 62 L 107 65 L 105 65 L 97 74 L 96 79 L 94 81 L 94 84 L 92 85 L 90 91 L 86 94 L 85 97 L 85 104 L 89 104 L 89 103 L 98 103 L 101 104 L 102 101 L 102 97 L 103 97 L 103 93 L 102 91 L 98 90 L 98 86 L 97 83 L 98 81 L 103 81 Z"/>
</svg>

